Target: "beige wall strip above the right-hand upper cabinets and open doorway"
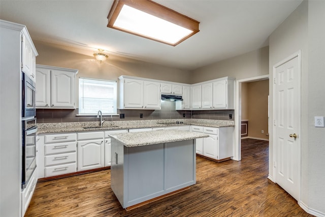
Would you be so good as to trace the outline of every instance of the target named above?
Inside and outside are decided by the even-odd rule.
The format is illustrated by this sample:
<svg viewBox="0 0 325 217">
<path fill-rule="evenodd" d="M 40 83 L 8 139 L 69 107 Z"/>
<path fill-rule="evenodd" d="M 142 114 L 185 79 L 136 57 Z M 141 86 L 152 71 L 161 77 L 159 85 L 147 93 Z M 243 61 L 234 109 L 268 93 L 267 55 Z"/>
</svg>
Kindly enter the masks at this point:
<svg viewBox="0 0 325 217">
<path fill-rule="evenodd" d="M 268 74 L 269 47 L 264 47 L 194 70 L 191 75 L 191 83 L 226 76 L 239 80 Z"/>
</svg>

